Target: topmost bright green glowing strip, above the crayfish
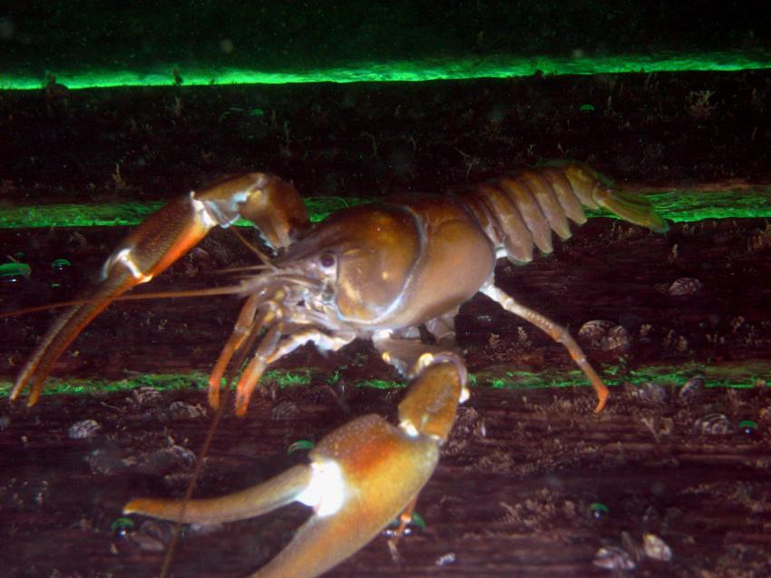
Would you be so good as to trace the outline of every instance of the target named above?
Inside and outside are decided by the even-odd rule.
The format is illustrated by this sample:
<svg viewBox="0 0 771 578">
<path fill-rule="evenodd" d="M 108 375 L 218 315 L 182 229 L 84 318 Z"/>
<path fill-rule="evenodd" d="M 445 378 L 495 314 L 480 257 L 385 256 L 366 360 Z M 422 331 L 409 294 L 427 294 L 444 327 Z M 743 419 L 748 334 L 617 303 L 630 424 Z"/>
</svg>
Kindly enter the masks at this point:
<svg viewBox="0 0 771 578">
<path fill-rule="evenodd" d="M 771 67 L 771 54 L 737 51 L 706 54 L 616 54 L 593 57 L 550 55 L 498 55 L 484 58 L 423 59 L 397 62 L 361 62 L 345 67 L 307 71 L 259 71 L 216 66 L 180 69 L 185 86 L 210 84 L 286 84 L 286 83 L 389 83 L 465 80 L 472 78 L 512 78 L 544 74 L 671 73 L 717 71 Z M 174 83 L 171 64 L 152 70 L 53 70 L 57 83 L 70 89 L 115 86 L 169 86 Z M 8 71 L 0 76 L 2 90 L 37 90 L 44 79 L 39 72 Z"/>
</svg>

